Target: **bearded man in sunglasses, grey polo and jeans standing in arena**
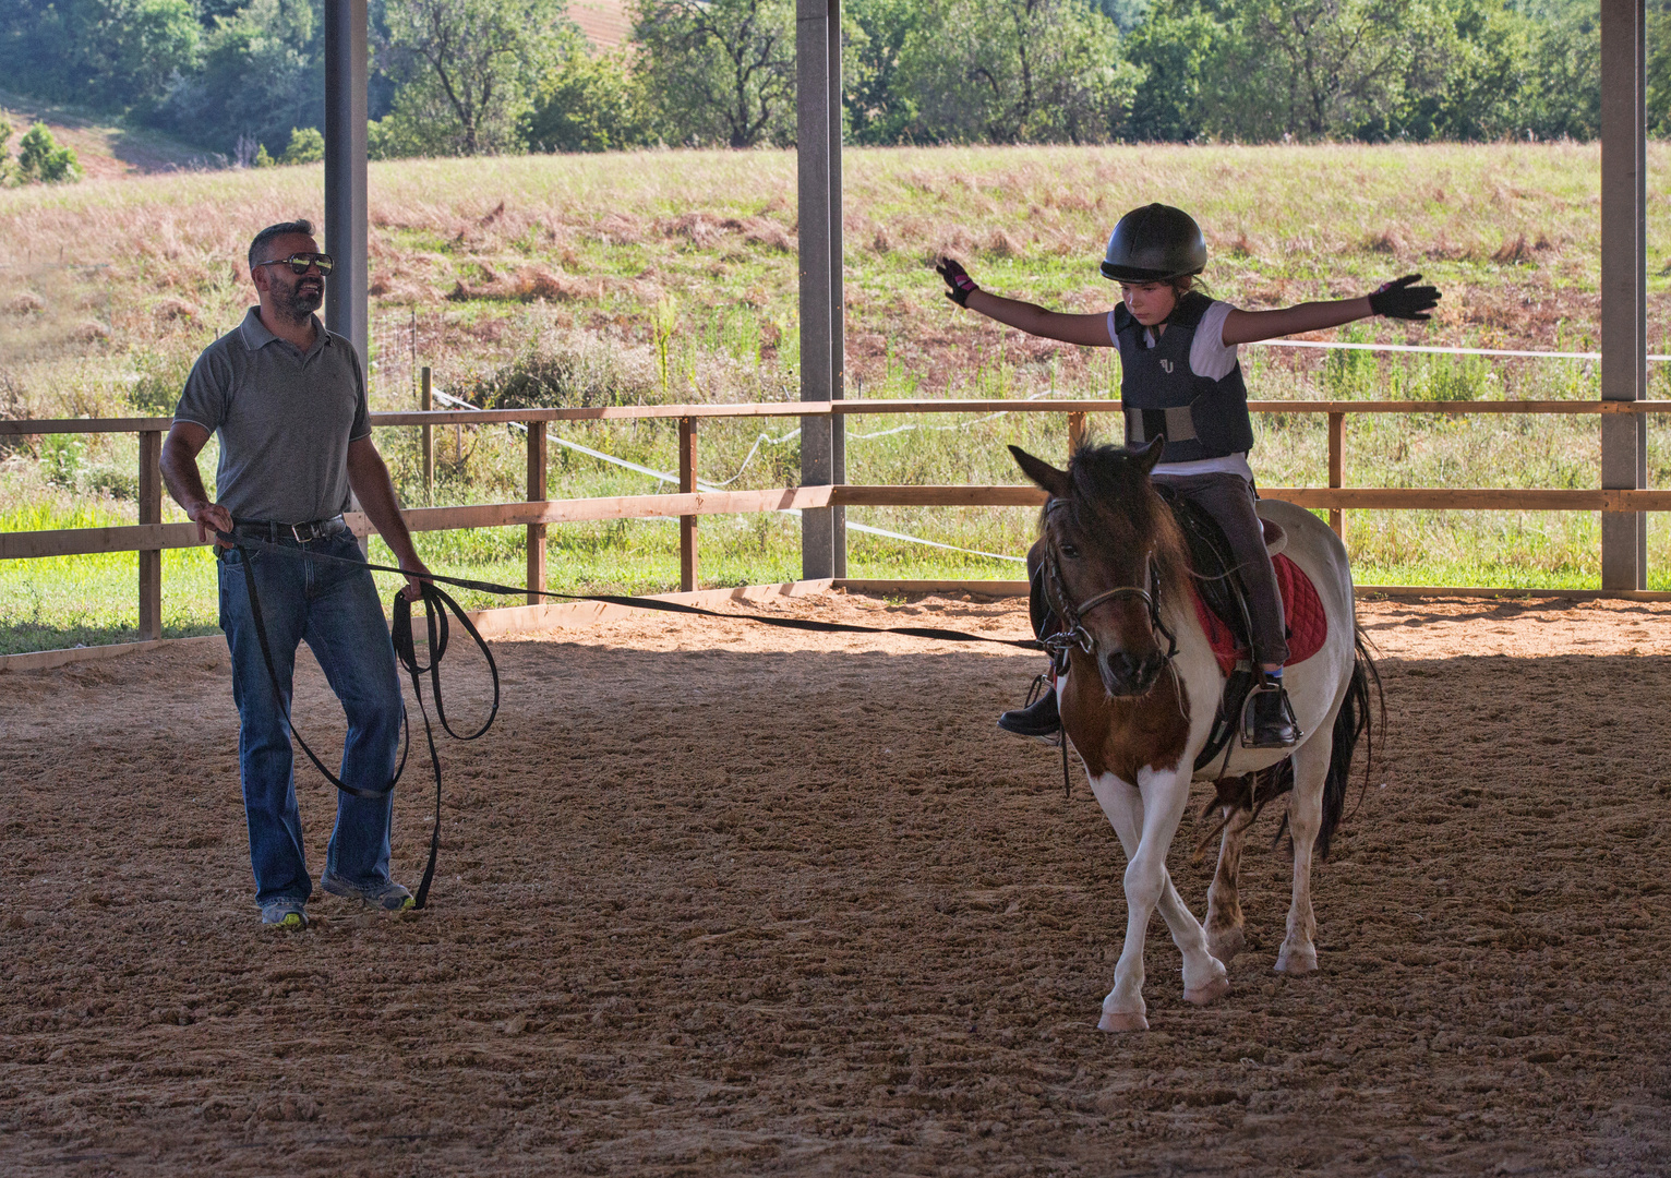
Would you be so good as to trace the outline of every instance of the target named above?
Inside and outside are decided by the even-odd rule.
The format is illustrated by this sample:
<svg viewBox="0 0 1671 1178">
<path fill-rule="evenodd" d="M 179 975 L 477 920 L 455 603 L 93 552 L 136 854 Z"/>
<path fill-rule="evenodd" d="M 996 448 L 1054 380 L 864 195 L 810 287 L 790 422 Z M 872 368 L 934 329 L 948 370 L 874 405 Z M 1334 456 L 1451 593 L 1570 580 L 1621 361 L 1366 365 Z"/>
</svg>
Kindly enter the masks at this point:
<svg viewBox="0 0 1671 1178">
<path fill-rule="evenodd" d="M 306 221 L 256 234 L 249 276 L 261 304 L 197 358 L 162 444 L 162 478 L 197 523 L 199 540 L 236 531 L 361 565 L 256 551 L 246 566 L 236 548 L 216 541 L 256 904 L 264 924 L 287 929 L 307 926 L 312 894 L 291 764 L 296 647 L 307 643 L 348 713 L 341 777 L 349 785 L 388 785 L 404 715 L 383 603 L 343 523 L 349 491 L 408 571 L 408 597 L 429 571 L 371 443 L 359 358 L 314 314 L 331 266 Z M 197 471 L 197 453 L 212 433 L 221 436 L 214 501 Z M 261 653 L 246 576 L 256 578 L 282 698 Z M 338 794 L 324 891 L 386 911 L 411 907 L 411 894 L 389 877 L 391 810 L 393 794 Z"/>
</svg>

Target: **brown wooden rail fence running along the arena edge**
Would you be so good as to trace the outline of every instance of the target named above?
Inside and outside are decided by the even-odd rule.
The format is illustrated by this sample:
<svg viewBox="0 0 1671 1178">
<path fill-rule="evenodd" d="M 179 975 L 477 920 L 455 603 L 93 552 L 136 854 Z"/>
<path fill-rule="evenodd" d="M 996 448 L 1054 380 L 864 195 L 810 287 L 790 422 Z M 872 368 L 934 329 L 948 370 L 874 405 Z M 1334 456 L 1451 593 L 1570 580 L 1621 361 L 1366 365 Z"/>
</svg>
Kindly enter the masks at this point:
<svg viewBox="0 0 1671 1178">
<path fill-rule="evenodd" d="M 429 371 L 423 373 L 423 404 L 429 404 Z M 1671 511 L 1671 491 L 1639 490 L 1551 490 L 1551 488 L 1357 488 L 1343 486 L 1345 419 L 1348 414 L 1666 414 L 1671 401 L 1250 401 L 1253 413 L 1310 414 L 1328 418 L 1328 486 L 1262 488 L 1267 496 L 1303 508 L 1327 510 L 1330 526 L 1342 531 L 1343 510 L 1437 510 L 1437 511 Z M 698 586 L 698 531 L 703 515 L 744 515 L 825 506 L 1036 506 L 1044 493 L 1034 486 L 784 486 L 764 491 L 698 491 L 697 426 L 702 418 L 809 418 L 827 414 L 921 414 L 921 413 L 1063 413 L 1068 416 L 1069 446 L 1086 436 L 1088 414 L 1120 413 L 1106 399 L 899 399 L 899 401 L 784 401 L 764 404 L 642 404 L 566 409 L 446 409 L 419 413 L 374 413 L 374 426 L 419 426 L 423 439 L 424 498 L 433 491 L 433 428 L 465 424 L 521 423 L 528 428 L 526 500 L 520 503 L 475 503 L 465 506 L 421 506 L 404 511 L 413 531 L 455 528 L 525 526 L 528 541 L 528 586 L 545 588 L 546 526 L 587 520 L 680 521 L 680 588 Z M 550 500 L 548 423 L 675 419 L 678 423 L 678 493 L 623 495 L 610 498 Z M 0 533 L 0 560 L 33 556 L 77 556 L 92 553 L 139 553 L 139 637 L 162 637 L 162 550 L 199 543 L 192 523 L 162 523 L 162 475 L 159 458 L 170 418 L 53 418 L 0 421 L 0 436 L 57 433 L 139 434 L 139 523 L 112 528 L 62 528 L 48 531 Z M 363 515 L 349 515 L 358 535 L 371 531 Z M 528 602 L 536 603 L 536 593 Z"/>
</svg>

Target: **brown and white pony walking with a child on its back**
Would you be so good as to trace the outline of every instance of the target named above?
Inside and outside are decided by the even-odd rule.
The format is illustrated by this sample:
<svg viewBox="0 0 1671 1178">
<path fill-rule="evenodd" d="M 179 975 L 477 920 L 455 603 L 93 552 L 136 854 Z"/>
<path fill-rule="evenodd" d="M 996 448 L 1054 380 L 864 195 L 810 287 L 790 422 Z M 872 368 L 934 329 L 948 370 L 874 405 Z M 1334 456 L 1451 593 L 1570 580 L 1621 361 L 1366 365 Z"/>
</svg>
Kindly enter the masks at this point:
<svg viewBox="0 0 1671 1178">
<path fill-rule="evenodd" d="M 1161 439 L 1148 448 L 1089 446 L 1068 470 L 1011 446 L 1021 470 L 1049 493 L 1041 518 L 1044 592 L 1071 642 L 1056 683 L 1063 730 L 1084 762 L 1091 792 L 1126 852 L 1126 941 L 1115 989 L 1103 999 L 1105 1031 L 1143 1031 L 1143 937 L 1158 907 L 1183 952 L 1183 996 L 1210 1003 L 1230 989 L 1227 961 L 1243 946 L 1237 869 L 1248 812 L 1228 812 L 1203 929 L 1173 887 L 1166 852 L 1190 799 L 1195 760 L 1225 687 L 1195 613 L 1183 535 L 1150 481 Z M 1352 752 L 1369 725 L 1374 667 L 1357 642 L 1347 553 L 1310 511 L 1262 500 L 1260 516 L 1288 533 L 1285 553 L 1312 578 L 1328 638 L 1285 672 L 1305 734 L 1292 750 L 1242 749 L 1232 739 L 1200 777 L 1285 770 L 1292 757 L 1293 902 L 1277 969 L 1317 969 L 1312 854 L 1327 854 L 1340 820 Z M 1267 777 L 1267 784 L 1270 777 Z"/>
</svg>

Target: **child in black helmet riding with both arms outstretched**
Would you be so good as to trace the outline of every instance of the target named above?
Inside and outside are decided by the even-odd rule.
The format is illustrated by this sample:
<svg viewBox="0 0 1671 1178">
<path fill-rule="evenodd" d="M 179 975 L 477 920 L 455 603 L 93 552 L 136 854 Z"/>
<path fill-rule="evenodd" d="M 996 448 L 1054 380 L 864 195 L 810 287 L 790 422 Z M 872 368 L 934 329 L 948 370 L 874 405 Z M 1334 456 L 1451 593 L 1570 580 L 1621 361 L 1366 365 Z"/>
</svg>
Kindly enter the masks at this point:
<svg viewBox="0 0 1671 1178">
<path fill-rule="evenodd" d="M 1420 274 L 1405 274 L 1360 299 L 1242 311 L 1193 289 L 1205 267 L 1206 241 L 1195 219 L 1171 206 L 1146 204 L 1123 216 L 1108 239 L 1103 277 L 1120 282 L 1121 302 L 1106 314 L 1061 314 L 991 294 L 951 259 L 936 269 L 949 287 L 946 297 L 957 306 L 1033 336 L 1120 349 L 1126 443 L 1165 436 L 1155 481 L 1218 521 L 1247 590 L 1252 653 L 1260 668 L 1248 702 L 1252 715 L 1243 725 L 1247 744 L 1288 749 L 1302 734 L 1282 690 L 1287 627 L 1277 573 L 1253 510 L 1258 498 L 1248 466 L 1253 423 L 1237 348 L 1370 316 L 1429 319 L 1440 296 L 1432 286 L 1415 286 Z M 1038 598 L 1036 553 L 1029 553 L 1028 565 Z M 1044 617 L 1039 605 L 1034 602 L 1034 618 Z M 1031 707 L 1004 712 L 998 725 L 1021 735 L 1054 735 L 1061 729 L 1056 692 L 1046 692 Z"/>
</svg>

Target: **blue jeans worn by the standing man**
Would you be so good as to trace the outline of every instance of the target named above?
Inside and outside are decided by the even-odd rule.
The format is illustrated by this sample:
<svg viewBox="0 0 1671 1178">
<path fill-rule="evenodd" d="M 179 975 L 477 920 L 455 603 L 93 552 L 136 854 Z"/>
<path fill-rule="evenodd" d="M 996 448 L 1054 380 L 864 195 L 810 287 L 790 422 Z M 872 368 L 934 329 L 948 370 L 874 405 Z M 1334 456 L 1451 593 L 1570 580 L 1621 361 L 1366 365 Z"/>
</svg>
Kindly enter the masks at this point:
<svg viewBox="0 0 1671 1178">
<path fill-rule="evenodd" d="M 299 546 L 294 540 L 281 541 Z M 314 551 L 364 565 L 354 535 L 341 531 L 307 545 Z M 394 775 L 401 734 L 401 683 L 383 603 L 366 568 L 316 563 L 289 553 L 254 551 L 246 566 L 236 548 L 221 550 L 221 628 L 232 652 L 232 700 L 237 703 L 237 769 L 244 782 L 249 861 L 256 902 L 312 894 L 296 810 L 291 755 L 291 673 L 296 647 L 306 642 L 331 690 L 348 713 L 348 739 L 338 772 L 349 785 L 381 789 Z M 274 698 L 249 613 L 244 578 L 254 573 L 261 617 L 284 698 Z M 338 790 L 336 829 L 326 847 L 326 871 L 351 884 L 389 881 L 393 794 L 381 799 Z"/>
</svg>

